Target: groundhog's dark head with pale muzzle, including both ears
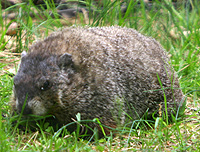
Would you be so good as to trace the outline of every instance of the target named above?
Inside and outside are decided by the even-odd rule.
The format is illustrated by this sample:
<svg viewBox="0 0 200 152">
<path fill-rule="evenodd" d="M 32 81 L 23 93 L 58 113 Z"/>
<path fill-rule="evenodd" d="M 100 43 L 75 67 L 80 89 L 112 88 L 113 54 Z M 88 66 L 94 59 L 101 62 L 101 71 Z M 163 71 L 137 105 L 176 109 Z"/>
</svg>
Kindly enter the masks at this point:
<svg viewBox="0 0 200 152">
<path fill-rule="evenodd" d="M 63 85 L 69 85 L 75 70 L 70 54 L 22 53 L 14 77 L 14 102 L 18 113 L 53 114 L 61 101 Z"/>
</svg>

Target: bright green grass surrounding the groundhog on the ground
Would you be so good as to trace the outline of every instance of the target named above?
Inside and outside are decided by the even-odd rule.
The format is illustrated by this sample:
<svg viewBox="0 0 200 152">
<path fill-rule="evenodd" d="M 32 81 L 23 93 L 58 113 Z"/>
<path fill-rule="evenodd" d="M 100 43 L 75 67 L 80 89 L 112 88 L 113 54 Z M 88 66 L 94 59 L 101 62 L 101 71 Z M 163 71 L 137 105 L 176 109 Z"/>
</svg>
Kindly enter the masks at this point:
<svg viewBox="0 0 200 152">
<path fill-rule="evenodd" d="M 65 129 L 60 136 L 47 123 L 39 123 L 38 131 L 22 131 L 12 125 L 10 119 L 10 98 L 12 95 L 12 74 L 8 72 L 9 62 L 6 59 L 16 59 L 16 56 L 0 56 L 0 151 L 199 151 L 200 147 L 200 8 L 199 2 L 194 0 L 193 9 L 189 11 L 184 4 L 177 9 L 171 2 L 163 3 L 155 0 L 152 9 L 146 8 L 143 1 L 138 6 L 135 0 L 127 0 L 123 5 L 127 11 L 121 13 L 120 0 L 102 0 L 103 7 L 94 5 L 91 0 L 80 1 L 89 10 L 89 19 L 79 14 L 74 23 L 89 26 L 120 25 L 134 28 L 144 35 L 151 36 L 161 43 L 168 52 L 171 63 L 177 71 L 183 93 L 187 95 L 185 116 L 168 124 L 161 117 L 155 118 L 153 125 L 135 125 L 134 128 L 121 128 L 116 137 L 112 134 L 103 139 L 96 136 L 84 139 L 77 132 L 68 133 Z M 53 9 L 51 9 L 53 7 Z M 91 11 L 91 8 L 95 12 Z M 35 13 L 36 10 L 39 13 Z M 48 6 L 47 10 L 38 9 L 33 4 L 21 3 L 1 14 L 14 11 L 20 28 L 16 36 L 6 36 L 6 29 L 10 21 L 0 17 L 0 53 L 13 51 L 22 52 L 33 43 L 36 38 L 44 38 L 50 32 L 66 25 L 72 25 L 70 20 L 52 18 L 48 15 L 55 6 Z M 34 17 L 24 15 L 35 13 Z M 42 18 L 42 19 L 41 19 Z M 189 33 L 189 34 L 185 34 Z M 16 62 L 15 61 L 15 62 Z M 16 68 L 17 64 L 12 67 Z M 195 110 L 192 110 L 195 109 Z M 136 122 L 135 122 L 136 123 Z M 139 121 L 142 123 L 142 120 Z M 146 122 L 147 123 L 147 122 Z M 148 123 L 150 124 L 150 123 Z"/>
</svg>

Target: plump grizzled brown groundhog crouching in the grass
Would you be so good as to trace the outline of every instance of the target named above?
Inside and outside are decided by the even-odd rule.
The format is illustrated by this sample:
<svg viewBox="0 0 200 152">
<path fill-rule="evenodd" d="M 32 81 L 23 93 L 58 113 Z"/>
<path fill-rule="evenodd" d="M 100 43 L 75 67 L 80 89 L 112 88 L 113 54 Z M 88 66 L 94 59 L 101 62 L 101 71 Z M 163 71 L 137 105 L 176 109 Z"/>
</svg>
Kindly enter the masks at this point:
<svg viewBox="0 0 200 152">
<path fill-rule="evenodd" d="M 22 53 L 13 88 L 19 114 L 53 115 L 65 125 L 80 113 L 112 128 L 158 114 L 160 105 L 165 113 L 165 101 L 175 115 L 183 98 L 161 45 L 118 26 L 67 27 L 36 42 Z"/>
</svg>

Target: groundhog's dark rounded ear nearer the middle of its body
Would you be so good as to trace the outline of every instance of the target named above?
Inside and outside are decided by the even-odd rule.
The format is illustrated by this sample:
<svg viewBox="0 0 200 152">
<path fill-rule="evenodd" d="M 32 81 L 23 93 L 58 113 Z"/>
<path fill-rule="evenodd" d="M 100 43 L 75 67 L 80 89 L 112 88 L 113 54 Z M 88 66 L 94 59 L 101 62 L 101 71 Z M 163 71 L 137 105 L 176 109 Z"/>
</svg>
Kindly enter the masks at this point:
<svg viewBox="0 0 200 152">
<path fill-rule="evenodd" d="M 58 66 L 59 66 L 60 68 L 69 66 L 69 65 L 71 65 L 72 63 L 73 63 L 73 61 L 72 61 L 72 55 L 71 55 L 71 54 L 68 54 L 68 53 L 65 53 L 65 54 L 63 54 L 62 56 L 60 56 L 60 57 L 58 58 L 58 62 L 57 62 Z"/>
</svg>

